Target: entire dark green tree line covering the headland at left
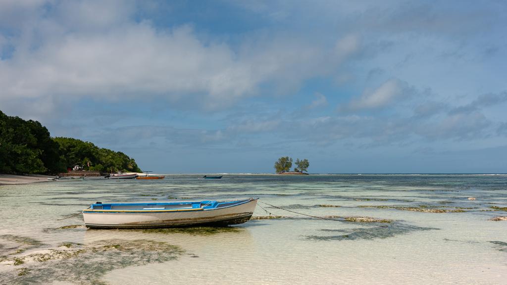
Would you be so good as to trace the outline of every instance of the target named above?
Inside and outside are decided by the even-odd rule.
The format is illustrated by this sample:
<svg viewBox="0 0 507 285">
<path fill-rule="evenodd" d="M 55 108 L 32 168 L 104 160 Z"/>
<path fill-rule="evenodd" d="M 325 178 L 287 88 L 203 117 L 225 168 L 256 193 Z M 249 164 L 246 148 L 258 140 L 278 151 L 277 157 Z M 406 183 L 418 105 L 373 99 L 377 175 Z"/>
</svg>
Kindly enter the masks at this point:
<svg viewBox="0 0 507 285">
<path fill-rule="evenodd" d="M 0 173 L 56 174 L 79 165 L 100 172 L 141 172 L 122 152 L 68 137 L 52 138 L 38 121 L 25 121 L 0 111 Z"/>
</svg>

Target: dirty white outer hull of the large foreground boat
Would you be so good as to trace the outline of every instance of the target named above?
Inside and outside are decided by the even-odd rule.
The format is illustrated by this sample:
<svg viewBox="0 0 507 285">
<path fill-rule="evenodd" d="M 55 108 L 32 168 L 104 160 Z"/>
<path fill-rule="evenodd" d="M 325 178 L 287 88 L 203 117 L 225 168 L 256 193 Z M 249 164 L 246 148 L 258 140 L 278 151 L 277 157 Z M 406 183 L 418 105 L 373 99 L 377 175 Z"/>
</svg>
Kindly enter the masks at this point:
<svg viewBox="0 0 507 285">
<path fill-rule="evenodd" d="M 84 210 L 85 226 L 95 229 L 172 228 L 196 225 L 236 225 L 248 221 L 257 199 L 243 204 L 211 209 L 167 211 L 92 211 Z"/>
</svg>

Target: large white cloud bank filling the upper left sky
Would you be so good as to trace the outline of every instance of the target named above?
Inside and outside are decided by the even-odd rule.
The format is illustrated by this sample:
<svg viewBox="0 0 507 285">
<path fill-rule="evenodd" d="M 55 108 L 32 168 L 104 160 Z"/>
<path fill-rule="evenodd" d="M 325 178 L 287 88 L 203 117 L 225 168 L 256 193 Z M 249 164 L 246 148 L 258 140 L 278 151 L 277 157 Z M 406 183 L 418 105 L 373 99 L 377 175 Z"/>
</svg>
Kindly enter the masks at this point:
<svg viewBox="0 0 507 285">
<path fill-rule="evenodd" d="M 134 21 L 132 2 L 63 2 L 49 11 L 45 4 L 9 6 L 29 11 L 30 21 L 0 41 L 15 48 L 0 59 L 2 99 L 164 96 L 219 109 L 258 94 L 263 84 L 277 94 L 298 89 L 357 47 L 352 36 L 339 41 L 334 54 L 297 37 L 256 35 L 233 49 L 201 40 L 190 26 L 160 29 Z"/>
</svg>

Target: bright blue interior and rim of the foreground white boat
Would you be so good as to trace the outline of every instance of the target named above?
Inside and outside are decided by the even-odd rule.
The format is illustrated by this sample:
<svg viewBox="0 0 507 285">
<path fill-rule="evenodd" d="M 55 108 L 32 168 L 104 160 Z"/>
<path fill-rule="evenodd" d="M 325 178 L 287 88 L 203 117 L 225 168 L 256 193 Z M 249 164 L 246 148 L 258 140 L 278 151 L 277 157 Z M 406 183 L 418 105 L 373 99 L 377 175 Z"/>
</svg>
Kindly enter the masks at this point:
<svg viewBox="0 0 507 285">
<path fill-rule="evenodd" d="M 92 210 L 171 210 L 171 209 L 213 209 L 223 208 L 246 203 L 248 200 L 237 201 L 198 201 L 198 202 L 179 202 L 179 203 L 94 203 L 91 204 Z"/>
</svg>

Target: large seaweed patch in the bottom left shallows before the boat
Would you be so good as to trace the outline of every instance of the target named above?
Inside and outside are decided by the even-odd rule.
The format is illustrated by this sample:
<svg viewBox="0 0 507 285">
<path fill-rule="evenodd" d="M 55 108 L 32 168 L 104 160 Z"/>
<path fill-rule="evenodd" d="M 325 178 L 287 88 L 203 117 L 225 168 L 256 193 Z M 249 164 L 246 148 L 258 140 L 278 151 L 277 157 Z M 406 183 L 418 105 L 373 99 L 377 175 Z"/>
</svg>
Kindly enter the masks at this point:
<svg viewBox="0 0 507 285">
<path fill-rule="evenodd" d="M 78 245 L 78 244 L 73 244 Z M 90 246 L 80 246 L 23 257 L 7 258 L 12 266 L 24 265 L 3 272 L 0 283 L 51 283 L 68 281 L 78 284 L 104 284 L 104 274 L 128 266 L 162 263 L 184 253 L 177 246 L 152 240 L 101 240 Z"/>
</svg>

